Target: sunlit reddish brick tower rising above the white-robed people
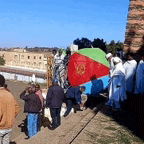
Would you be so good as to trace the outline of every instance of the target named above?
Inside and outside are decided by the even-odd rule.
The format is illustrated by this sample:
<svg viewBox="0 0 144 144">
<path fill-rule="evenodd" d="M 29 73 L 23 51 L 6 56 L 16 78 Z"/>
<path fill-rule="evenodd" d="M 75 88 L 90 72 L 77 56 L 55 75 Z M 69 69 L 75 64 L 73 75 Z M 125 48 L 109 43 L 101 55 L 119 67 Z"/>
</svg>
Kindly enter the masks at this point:
<svg viewBox="0 0 144 144">
<path fill-rule="evenodd" d="M 137 52 L 144 42 L 144 0 L 130 0 L 124 51 Z"/>
</svg>

